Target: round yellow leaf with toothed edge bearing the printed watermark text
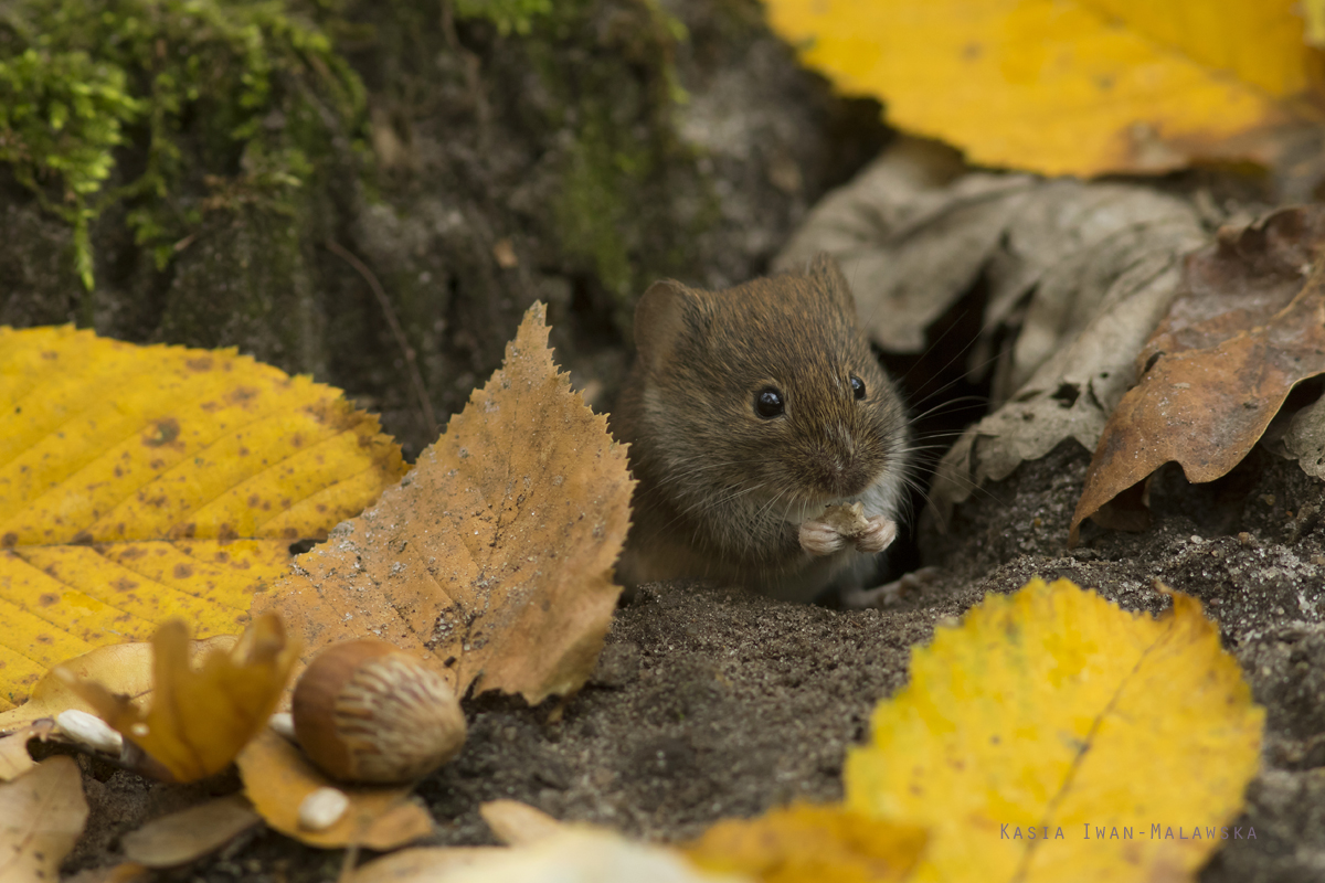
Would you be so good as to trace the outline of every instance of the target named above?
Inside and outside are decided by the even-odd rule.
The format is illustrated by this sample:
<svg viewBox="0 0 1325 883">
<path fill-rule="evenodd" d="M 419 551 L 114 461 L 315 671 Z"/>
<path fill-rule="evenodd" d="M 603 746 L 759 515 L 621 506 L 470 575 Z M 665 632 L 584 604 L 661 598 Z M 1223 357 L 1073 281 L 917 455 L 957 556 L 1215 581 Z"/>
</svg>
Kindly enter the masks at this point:
<svg viewBox="0 0 1325 883">
<path fill-rule="evenodd" d="M 937 630 L 910 676 L 845 785 L 929 829 L 916 880 L 1194 879 L 1256 774 L 1264 711 L 1186 594 L 1151 618 L 1032 580 Z"/>
</svg>

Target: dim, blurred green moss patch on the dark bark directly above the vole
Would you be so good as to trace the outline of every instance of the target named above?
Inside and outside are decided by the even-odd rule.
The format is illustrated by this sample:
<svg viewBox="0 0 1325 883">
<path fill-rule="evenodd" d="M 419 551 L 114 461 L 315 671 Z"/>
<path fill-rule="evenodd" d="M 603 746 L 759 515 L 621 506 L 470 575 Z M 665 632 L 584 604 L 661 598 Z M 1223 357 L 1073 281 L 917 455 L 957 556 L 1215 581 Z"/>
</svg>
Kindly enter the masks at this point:
<svg viewBox="0 0 1325 883">
<path fill-rule="evenodd" d="M 564 64 L 566 44 L 595 32 L 603 5 L 558 3 L 537 24 L 529 52 L 560 102 L 549 122 L 574 134 L 553 205 L 562 250 L 590 265 L 627 331 L 635 298 L 652 279 L 693 267 L 697 234 L 718 213 L 710 193 L 676 199 L 677 187 L 702 180 L 676 135 L 674 111 L 688 99 L 674 65 L 688 37 L 676 19 L 655 0 L 615 4 L 610 40 L 591 45 L 587 64 Z"/>
</svg>

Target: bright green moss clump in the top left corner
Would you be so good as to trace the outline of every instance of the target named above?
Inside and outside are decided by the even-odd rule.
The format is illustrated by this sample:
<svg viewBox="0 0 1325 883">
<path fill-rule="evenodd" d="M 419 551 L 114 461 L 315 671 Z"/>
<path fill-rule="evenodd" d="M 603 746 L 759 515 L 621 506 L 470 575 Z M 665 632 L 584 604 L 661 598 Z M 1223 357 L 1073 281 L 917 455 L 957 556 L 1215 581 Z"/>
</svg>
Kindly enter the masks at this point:
<svg viewBox="0 0 1325 883">
<path fill-rule="evenodd" d="M 363 103 L 286 0 L 16 0 L 0 13 L 0 162 L 73 225 L 89 289 L 89 228 L 109 205 L 126 203 L 164 266 L 209 208 L 295 199 Z"/>
</svg>

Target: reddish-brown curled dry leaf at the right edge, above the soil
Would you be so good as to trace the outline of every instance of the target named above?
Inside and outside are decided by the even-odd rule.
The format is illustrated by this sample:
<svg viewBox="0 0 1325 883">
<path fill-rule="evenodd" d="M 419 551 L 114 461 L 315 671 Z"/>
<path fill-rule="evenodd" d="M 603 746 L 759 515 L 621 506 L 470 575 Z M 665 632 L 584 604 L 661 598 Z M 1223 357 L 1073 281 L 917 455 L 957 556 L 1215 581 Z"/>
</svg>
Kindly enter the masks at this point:
<svg viewBox="0 0 1325 883">
<path fill-rule="evenodd" d="M 1210 482 L 1260 440 L 1292 388 L 1325 373 L 1325 208 L 1277 210 L 1192 254 L 1104 428 L 1072 516 L 1138 519 L 1110 500 L 1166 462 Z"/>
</svg>

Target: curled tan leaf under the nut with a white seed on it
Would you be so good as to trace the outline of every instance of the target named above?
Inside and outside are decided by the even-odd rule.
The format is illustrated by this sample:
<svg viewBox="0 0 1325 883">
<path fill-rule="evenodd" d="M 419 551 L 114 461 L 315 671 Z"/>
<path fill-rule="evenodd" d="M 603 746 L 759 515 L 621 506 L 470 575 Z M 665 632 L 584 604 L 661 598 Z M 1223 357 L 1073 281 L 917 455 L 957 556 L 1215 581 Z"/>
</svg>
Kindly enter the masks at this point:
<svg viewBox="0 0 1325 883">
<path fill-rule="evenodd" d="M 270 729 L 264 729 L 244 748 L 238 768 L 244 793 L 266 823 L 309 846 L 359 845 L 392 850 L 432 834 L 432 815 L 411 800 L 409 785 L 338 785 Z M 309 830 L 299 823 L 299 809 L 310 794 L 323 788 L 341 790 L 350 805 L 335 823 Z"/>
</svg>

